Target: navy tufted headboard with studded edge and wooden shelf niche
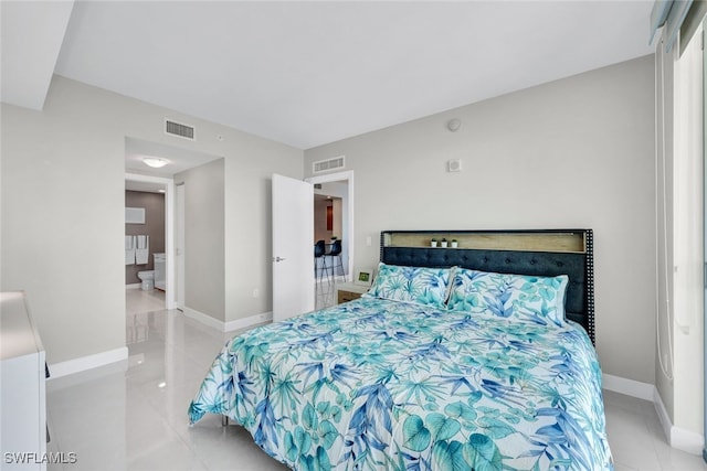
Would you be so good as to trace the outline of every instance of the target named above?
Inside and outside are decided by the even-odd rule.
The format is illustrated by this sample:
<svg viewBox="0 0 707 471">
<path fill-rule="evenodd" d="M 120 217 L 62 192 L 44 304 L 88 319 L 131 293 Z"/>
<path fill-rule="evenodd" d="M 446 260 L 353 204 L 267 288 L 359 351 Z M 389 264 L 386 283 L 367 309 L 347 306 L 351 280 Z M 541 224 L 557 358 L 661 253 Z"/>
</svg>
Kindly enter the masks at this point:
<svg viewBox="0 0 707 471">
<path fill-rule="evenodd" d="M 458 266 L 502 274 L 567 275 L 567 318 L 594 342 L 594 261 L 592 229 L 384 231 L 380 260 L 416 267 Z M 456 248 L 433 248 L 430 240 L 455 239 Z"/>
</svg>

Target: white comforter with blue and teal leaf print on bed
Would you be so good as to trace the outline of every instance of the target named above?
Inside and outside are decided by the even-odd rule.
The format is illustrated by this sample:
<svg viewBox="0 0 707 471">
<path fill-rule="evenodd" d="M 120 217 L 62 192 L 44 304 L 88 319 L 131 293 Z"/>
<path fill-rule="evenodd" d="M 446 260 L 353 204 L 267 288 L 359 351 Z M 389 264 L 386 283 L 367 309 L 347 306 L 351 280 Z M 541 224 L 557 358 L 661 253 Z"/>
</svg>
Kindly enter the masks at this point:
<svg viewBox="0 0 707 471">
<path fill-rule="evenodd" d="M 377 298 L 232 339 L 189 407 L 297 470 L 611 470 L 577 324 Z"/>
</svg>

